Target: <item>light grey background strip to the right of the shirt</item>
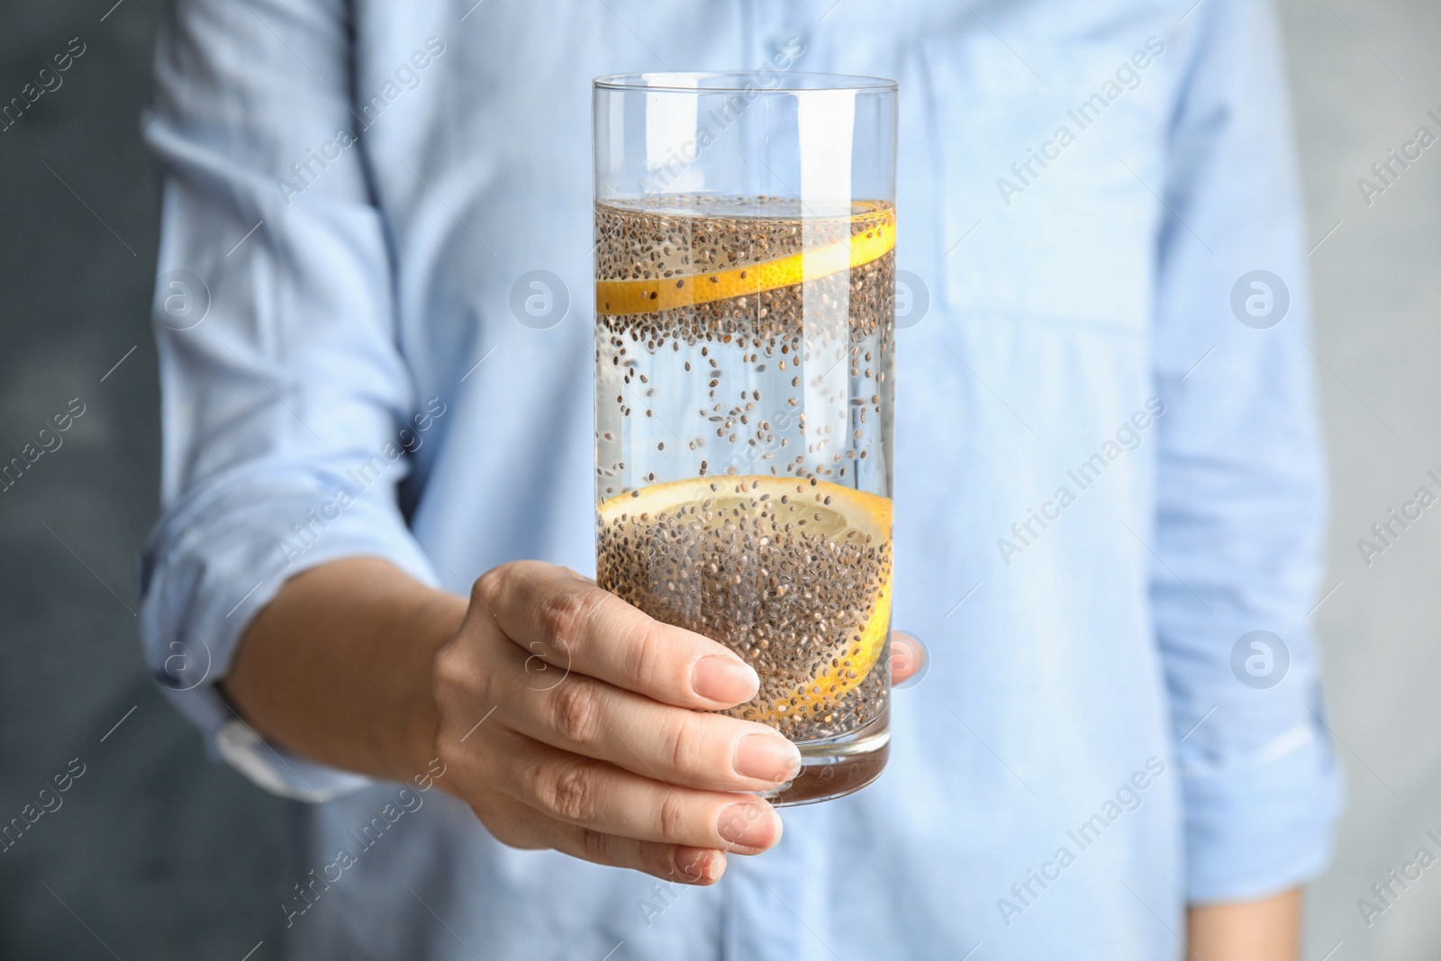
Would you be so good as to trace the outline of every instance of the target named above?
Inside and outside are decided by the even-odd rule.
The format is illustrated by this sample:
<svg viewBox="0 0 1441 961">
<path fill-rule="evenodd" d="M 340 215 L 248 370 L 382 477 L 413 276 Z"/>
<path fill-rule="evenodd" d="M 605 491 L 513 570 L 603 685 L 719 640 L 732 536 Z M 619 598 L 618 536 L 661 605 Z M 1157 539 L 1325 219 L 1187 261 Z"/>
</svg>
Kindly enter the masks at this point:
<svg viewBox="0 0 1441 961">
<path fill-rule="evenodd" d="M 1356 546 L 1441 474 L 1441 144 L 1368 207 L 1356 180 L 1417 127 L 1441 134 L 1441 4 L 1285 0 L 1316 294 L 1317 380 L 1330 445 L 1330 571 L 1316 611 L 1330 725 L 1349 797 L 1330 872 L 1308 903 L 1308 960 L 1441 957 L 1441 869 L 1368 928 L 1356 902 L 1441 846 L 1441 514 L 1372 558 Z M 1399 890 L 1399 888 L 1398 888 Z"/>
</svg>

